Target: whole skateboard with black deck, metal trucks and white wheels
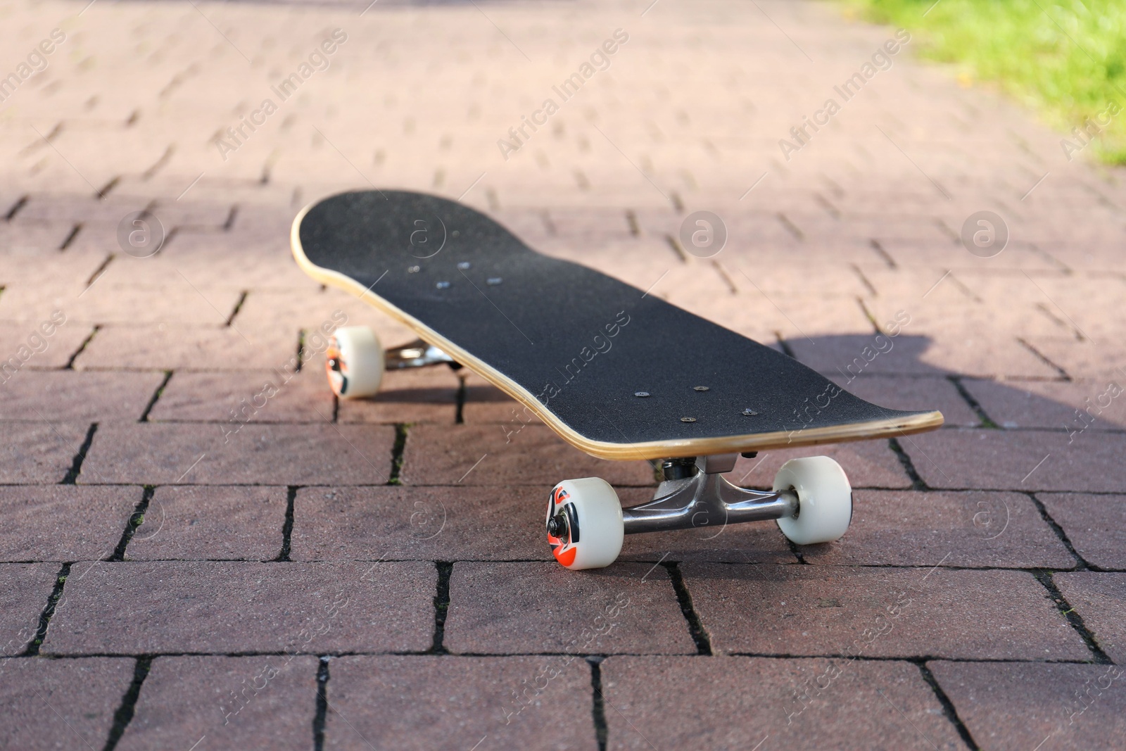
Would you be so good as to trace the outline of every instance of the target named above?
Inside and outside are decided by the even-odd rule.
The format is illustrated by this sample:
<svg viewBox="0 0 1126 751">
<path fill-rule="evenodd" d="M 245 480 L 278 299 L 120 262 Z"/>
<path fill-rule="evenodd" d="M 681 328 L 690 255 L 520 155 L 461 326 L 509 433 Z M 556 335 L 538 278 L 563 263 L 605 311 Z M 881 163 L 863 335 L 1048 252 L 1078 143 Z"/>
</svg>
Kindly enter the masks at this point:
<svg viewBox="0 0 1126 751">
<path fill-rule="evenodd" d="M 599 477 L 552 489 L 547 542 L 568 569 L 609 565 L 634 533 L 775 519 L 797 545 L 839 539 L 852 495 L 833 459 L 786 462 L 770 492 L 723 474 L 740 455 L 942 424 L 937 411 L 866 402 L 794 358 L 538 253 L 484 214 L 437 196 L 330 196 L 297 214 L 291 243 L 311 277 L 420 337 L 385 351 L 367 327 L 337 329 L 325 367 L 339 397 L 373 395 L 386 369 L 464 366 L 572 446 L 660 467 L 654 499 L 626 509 Z"/>
</svg>

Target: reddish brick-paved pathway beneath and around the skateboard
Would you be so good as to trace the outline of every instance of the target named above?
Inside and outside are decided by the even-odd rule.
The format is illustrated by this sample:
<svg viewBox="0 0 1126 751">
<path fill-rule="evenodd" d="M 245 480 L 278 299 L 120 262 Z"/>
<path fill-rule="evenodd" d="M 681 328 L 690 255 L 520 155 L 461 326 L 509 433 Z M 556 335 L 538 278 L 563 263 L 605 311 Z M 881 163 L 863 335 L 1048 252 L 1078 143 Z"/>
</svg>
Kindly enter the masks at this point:
<svg viewBox="0 0 1126 751">
<path fill-rule="evenodd" d="M 828 3 L 365 5 L 2 10 L 0 744 L 1120 748 L 1120 171 Z M 826 448 L 824 549 L 748 525 L 564 572 L 547 488 L 635 502 L 646 465 L 449 370 L 328 391 L 327 331 L 408 334 L 287 232 L 368 185 L 947 426 Z"/>
</svg>

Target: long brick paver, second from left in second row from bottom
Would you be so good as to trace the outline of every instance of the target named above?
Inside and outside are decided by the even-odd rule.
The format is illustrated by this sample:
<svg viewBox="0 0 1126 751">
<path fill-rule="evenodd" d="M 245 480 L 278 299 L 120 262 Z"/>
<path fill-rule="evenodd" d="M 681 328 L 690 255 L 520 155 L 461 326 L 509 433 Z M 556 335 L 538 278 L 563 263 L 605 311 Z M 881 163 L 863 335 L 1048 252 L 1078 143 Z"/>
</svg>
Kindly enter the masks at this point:
<svg viewBox="0 0 1126 751">
<path fill-rule="evenodd" d="M 427 563 L 100 565 L 64 590 L 43 651 L 421 651 L 435 576 Z"/>
</svg>

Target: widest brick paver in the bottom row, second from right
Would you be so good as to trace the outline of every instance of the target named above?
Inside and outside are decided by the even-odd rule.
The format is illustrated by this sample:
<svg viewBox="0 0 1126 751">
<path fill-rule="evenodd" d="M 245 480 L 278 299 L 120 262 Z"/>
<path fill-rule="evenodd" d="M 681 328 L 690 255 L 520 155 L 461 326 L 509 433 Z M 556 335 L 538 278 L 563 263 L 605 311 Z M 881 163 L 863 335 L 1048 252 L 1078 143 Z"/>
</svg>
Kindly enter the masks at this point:
<svg viewBox="0 0 1126 751">
<path fill-rule="evenodd" d="M 966 748 L 906 662 L 613 656 L 601 668 L 607 748 Z"/>
</svg>

